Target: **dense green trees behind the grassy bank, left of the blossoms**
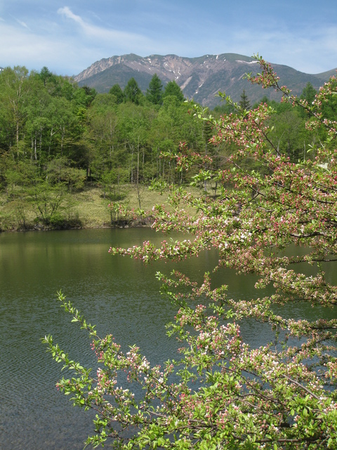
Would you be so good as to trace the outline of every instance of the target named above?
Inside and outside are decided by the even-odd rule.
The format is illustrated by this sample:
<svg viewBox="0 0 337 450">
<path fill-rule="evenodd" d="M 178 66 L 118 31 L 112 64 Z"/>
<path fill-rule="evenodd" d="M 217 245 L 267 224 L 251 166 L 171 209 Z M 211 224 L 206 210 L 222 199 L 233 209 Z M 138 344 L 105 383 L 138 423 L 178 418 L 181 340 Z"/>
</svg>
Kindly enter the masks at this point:
<svg viewBox="0 0 337 450">
<path fill-rule="evenodd" d="M 176 82 L 154 75 L 143 95 L 131 78 L 109 94 L 79 87 L 47 68 L 6 68 L 0 76 L 1 187 L 48 179 L 69 188 L 85 182 L 149 181 L 172 176 L 159 160 L 181 140 L 199 148 L 202 129 L 188 115 Z M 137 175 L 136 175 L 137 174 Z"/>
</svg>

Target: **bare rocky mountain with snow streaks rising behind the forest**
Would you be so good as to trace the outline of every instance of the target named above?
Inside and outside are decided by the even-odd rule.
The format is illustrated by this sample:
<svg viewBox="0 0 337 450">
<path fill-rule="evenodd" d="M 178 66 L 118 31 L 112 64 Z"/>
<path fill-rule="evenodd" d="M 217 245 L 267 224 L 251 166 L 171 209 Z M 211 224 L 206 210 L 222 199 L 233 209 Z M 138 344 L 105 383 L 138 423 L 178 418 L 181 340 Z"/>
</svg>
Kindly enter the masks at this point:
<svg viewBox="0 0 337 450">
<path fill-rule="evenodd" d="M 310 75 L 287 65 L 272 64 L 272 67 L 280 77 L 281 84 L 288 86 L 293 94 L 301 94 L 308 82 L 318 89 L 322 82 L 327 81 L 335 72 L 331 70 Z M 140 89 L 145 92 L 150 79 L 157 73 L 163 84 L 174 79 L 185 97 L 194 98 L 201 105 L 212 108 L 220 103 L 219 97 L 216 96 L 218 91 L 225 91 L 234 101 L 239 101 L 242 91 L 245 90 L 251 104 L 263 96 L 278 100 L 279 96 L 275 91 L 265 91 L 244 79 L 246 72 L 255 74 L 259 70 L 260 66 L 256 60 L 235 53 L 205 55 L 199 58 L 176 55 L 150 55 L 142 58 L 131 53 L 96 61 L 74 79 L 79 86 L 86 85 L 98 92 L 108 92 L 114 84 L 119 84 L 124 89 L 128 79 L 134 77 Z"/>
</svg>

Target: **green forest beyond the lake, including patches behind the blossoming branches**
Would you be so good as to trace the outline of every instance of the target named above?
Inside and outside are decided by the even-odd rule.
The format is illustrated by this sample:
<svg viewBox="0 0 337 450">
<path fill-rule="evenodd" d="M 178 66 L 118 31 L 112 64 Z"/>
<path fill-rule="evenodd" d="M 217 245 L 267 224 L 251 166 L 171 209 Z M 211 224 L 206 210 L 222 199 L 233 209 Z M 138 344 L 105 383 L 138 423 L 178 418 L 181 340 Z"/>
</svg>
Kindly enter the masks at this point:
<svg viewBox="0 0 337 450">
<path fill-rule="evenodd" d="M 301 97 L 312 103 L 315 94 L 308 84 Z M 266 97 L 261 102 L 275 110 L 268 123 L 270 145 L 293 162 L 314 158 L 326 131 L 305 127 L 310 117 L 289 103 Z M 140 188 L 192 181 L 193 171 L 176 171 L 173 155 L 181 143 L 211 155 L 216 169 L 225 167 L 227 156 L 236 151 L 233 143 L 209 143 L 211 124 L 197 120 L 176 82 L 163 86 L 157 75 L 145 94 L 133 78 L 124 90 L 115 84 L 108 94 L 99 94 L 46 67 L 40 72 L 5 68 L 0 105 L 1 231 L 82 226 L 72 199 L 93 188 L 107 205 L 125 200 L 126 186 L 132 186 L 142 207 Z M 239 103 L 224 102 L 210 113 L 248 114 L 255 107 L 243 91 Z M 336 97 L 323 111 L 328 120 L 336 115 Z M 248 157 L 243 163 L 253 164 Z M 200 187 L 216 196 L 218 186 L 203 181 Z M 112 214 L 112 224 L 116 219 Z"/>
</svg>

